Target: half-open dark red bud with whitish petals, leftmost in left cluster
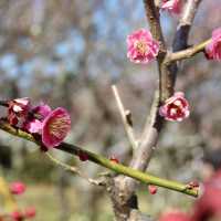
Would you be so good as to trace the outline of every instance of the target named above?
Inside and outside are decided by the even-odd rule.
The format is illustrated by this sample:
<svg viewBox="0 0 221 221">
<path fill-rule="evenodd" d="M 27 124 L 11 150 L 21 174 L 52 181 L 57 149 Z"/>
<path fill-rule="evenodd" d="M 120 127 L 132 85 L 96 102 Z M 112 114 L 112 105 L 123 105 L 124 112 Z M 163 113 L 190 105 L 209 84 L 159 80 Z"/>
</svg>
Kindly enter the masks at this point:
<svg viewBox="0 0 221 221">
<path fill-rule="evenodd" d="M 21 126 L 31 108 L 28 97 L 12 99 L 8 107 L 8 120 L 13 126 Z"/>
</svg>

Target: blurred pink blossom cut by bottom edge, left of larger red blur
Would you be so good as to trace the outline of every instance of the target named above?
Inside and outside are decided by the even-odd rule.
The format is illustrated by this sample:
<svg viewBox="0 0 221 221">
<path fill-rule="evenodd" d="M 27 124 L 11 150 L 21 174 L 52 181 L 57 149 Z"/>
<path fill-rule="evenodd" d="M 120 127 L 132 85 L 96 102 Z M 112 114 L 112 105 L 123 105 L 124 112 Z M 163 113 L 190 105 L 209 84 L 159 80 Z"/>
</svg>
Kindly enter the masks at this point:
<svg viewBox="0 0 221 221">
<path fill-rule="evenodd" d="M 162 214 L 159 221 L 190 221 L 190 217 L 180 211 L 171 211 Z"/>
</svg>

